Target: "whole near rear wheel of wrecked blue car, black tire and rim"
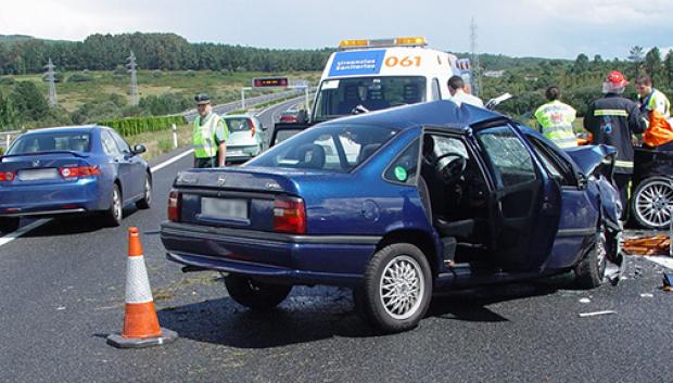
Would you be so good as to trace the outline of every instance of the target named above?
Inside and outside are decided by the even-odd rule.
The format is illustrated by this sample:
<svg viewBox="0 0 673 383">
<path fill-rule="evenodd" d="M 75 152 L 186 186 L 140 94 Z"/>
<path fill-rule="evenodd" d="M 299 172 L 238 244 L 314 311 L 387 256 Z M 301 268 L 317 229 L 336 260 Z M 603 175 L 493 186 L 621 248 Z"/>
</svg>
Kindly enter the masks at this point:
<svg viewBox="0 0 673 383">
<path fill-rule="evenodd" d="M 412 244 L 395 243 L 378 251 L 354 291 L 356 311 L 385 333 L 414 329 L 428 311 L 432 272 Z"/>
</svg>

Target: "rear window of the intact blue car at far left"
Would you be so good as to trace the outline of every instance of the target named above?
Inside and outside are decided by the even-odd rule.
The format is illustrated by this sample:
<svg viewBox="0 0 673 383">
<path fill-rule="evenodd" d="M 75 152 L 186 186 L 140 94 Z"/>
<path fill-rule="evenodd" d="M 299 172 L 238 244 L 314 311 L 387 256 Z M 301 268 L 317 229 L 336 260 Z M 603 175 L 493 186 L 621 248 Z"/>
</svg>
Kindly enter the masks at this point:
<svg viewBox="0 0 673 383">
<path fill-rule="evenodd" d="M 52 151 L 89 152 L 90 142 L 90 135 L 81 131 L 28 133 L 17 138 L 7 154 Z"/>
</svg>

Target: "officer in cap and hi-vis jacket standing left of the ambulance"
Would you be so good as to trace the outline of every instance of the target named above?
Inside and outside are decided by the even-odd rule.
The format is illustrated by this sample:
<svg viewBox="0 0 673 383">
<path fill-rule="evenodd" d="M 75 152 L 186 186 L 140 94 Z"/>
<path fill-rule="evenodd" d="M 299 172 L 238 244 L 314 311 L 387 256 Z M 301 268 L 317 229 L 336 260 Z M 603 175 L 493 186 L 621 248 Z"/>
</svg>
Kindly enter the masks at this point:
<svg viewBox="0 0 673 383">
<path fill-rule="evenodd" d="M 199 112 L 194 119 L 194 167 L 225 166 L 229 130 L 223 119 L 213 112 L 208 94 L 196 94 L 194 101 Z"/>
</svg>

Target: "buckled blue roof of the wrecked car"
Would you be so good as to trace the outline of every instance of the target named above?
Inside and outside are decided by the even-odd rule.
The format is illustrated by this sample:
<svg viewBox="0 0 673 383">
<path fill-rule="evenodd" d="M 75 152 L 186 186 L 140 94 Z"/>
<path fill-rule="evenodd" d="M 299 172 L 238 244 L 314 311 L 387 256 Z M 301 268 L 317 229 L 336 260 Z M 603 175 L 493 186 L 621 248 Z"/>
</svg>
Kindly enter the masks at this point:
<svg viewBox="0 0 673 383">
<path fill-rule="evenodd" d="M 458 106 L 453 101 L 440 100 L 342 117 L 320 125 L 350 123 L 405 129 L 429 125 L 470 126 L 494 118 L 504 117 L 483 107 L 465 103 Z"/>
</svg>

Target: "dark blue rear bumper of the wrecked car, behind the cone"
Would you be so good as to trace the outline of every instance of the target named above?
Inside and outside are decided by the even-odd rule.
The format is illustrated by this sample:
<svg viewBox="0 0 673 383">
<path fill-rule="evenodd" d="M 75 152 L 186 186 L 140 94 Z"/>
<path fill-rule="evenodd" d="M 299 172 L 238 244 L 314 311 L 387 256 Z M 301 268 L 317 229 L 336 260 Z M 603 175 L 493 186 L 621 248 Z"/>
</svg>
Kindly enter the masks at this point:
<svg viewBox="0 0 673 383">
<path fill-rule="evenodd" d="M 163 222 L 167 258 L 291 284 L 354 286 L 380 237 L 289 235 Z"/>
</svg>

